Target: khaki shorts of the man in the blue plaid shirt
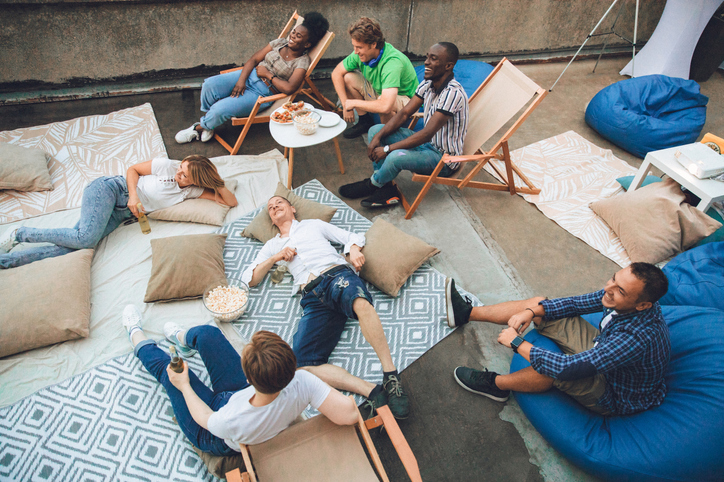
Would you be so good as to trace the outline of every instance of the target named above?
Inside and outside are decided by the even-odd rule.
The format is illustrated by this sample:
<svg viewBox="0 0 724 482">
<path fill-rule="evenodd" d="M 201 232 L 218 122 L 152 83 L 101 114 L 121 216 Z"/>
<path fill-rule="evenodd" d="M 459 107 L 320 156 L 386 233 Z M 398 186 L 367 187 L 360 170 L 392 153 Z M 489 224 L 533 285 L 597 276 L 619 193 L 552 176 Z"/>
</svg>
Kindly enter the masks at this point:
<svg viewBox="0 0 724 482">
<path fill-rule="evenodd" d="M 561 318 L 560 320 L 541 321 L 536 326 L 538 333 L 553 340 L 566 355 L 575 355 L 593 348 L 593 339 L 598 336 L 598 329 L 580 316 Z M 603 415 L 608 410 L 598 405 L 606 391 L 606 377 L 596 374 L 579 380 L 555 380 L 553 386 L 573 397 L 578 403 L 589 410 Z"/>
</svg>

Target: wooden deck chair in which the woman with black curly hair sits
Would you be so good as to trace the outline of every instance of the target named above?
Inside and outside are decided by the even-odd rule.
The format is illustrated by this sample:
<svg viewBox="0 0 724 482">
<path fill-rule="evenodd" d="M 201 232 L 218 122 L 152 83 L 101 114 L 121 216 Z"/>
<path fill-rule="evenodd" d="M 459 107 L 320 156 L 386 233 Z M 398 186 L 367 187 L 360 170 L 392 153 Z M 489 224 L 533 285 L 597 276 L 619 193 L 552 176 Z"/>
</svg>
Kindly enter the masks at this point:
<svg viewBox="0 0 724 482">
<path fill-rule="evenodd" d="M 289 35 L 289 32 L 292 31 L 292 28 L 294 28 L 296 25 L 301 24 L 304 21 L 304 17 L 299 15 L 296 10 L 294 11 L 294 14 L 292 14 L 291 18 L 287 22 L 287 24 L 284 26 L 284 29 L 282 30 L 282 33 L 279 34 L 278 38 L 283 38 Z M 309 68 L 307 69 L 307 75 L 304 77 L 304 80 L 302 81 L 302 85 L 299 86 L 299 89 L 294 92 L 293 94 L 274 94 L 270 95 L 268 97 L 259 97 L 256 100 L 256 104 L 254 104 L 254 108 L 251 110 L 251 113 L 249 114 L 249 117 L 232 117 L 231 118 L 231 125 L 233 126 L 244 126 L 244 128 L 241 131 L 241 134 L 239 134 L 239 137 L 236 139 L 236 142 L 234 143 L 234 146 L 232 147 L 230 144 L 228 144 L 224 139 L 221 138 L 219 134 L 214 134 L 214 138 L 219 141 L 219 143 L 224 146 L 224 148 L 229 151 L 229 154 L 232 156 L 235 155 L 237 152 L 239 152 L 239 148 L 241 147 L 241 144 L 244 142 L 244 139 L 246 138 L 246 134 L 249 132 L 249 128 L 252 124 L 261 124 L 261 123 L 268 123 L 269 119 L 271 117 L 272 112 L 274 112 L 276 109 L 282 106 L 282 104 L 285 104 L 289 101 L 292 101 L 295 99 L 297 95 L 303 94 L 309 97 L 312 101 L 319 104 L 323 109 L 325 110 L 331 110 L 336 111 L 335 105 L 327 99 L 324 95 L 322 95 L 321 92 L 319 92 L 319 89 L 317 89 L 317 86 L 314 85 L 314 82 L 312 82 L 312 72 L 314 72 L 314 68 L 317 66 L 317 63 L 319 63 L 319 60 L 322 58 L 324 53 L 327 51 L 327 48 L 329 48 L 329 44 L 332 43 L 332 40 L 334 39 L 334 33 L 333 32 L 327 32 L 324 37 L 322 37 L 317 45 L 309 52 L 309 58 L 311 60 L 311 63 L 309 64 Z M 229 70 L 222 70 L 222 74 L 226 74 L 228 72 L 234 72 L 236 70 L 241 70 L 242 67 L 237 67 L 235 69 L 229 69 Z M 307 87 L 305 87 L 305 85 Z M 266 102 L 274 102 L 270 107 L 267 109 L 264 109 L 263 111 L 259 112 L 259 106 L 261 104 L 264 104 Z"/>
</svg>

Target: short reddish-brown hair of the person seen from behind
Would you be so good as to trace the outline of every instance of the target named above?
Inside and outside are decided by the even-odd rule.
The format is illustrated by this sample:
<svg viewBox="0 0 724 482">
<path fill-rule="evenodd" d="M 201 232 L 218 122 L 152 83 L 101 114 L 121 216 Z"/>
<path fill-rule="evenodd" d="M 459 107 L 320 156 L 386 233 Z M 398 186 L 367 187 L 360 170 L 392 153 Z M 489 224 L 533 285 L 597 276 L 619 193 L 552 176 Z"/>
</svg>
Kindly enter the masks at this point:
<svg viewBox="0 0 724 482">
<path fill-rule="evenodd" d="M 241 352 L 241 369 L 259 393 L 281 391 L 294 379 L 297 357 L 289 344 L 271 331 L 257 331 Z"/>
</svg>

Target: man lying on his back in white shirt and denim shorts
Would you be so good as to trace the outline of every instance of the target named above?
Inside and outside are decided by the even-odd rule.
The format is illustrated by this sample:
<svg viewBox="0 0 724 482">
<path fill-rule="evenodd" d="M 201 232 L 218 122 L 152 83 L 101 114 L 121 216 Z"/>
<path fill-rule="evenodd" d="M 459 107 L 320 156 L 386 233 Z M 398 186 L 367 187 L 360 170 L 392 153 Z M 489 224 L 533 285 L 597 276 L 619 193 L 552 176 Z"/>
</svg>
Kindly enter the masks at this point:
<svg viewBox="0 0 724 482">
<path fill-rule="evenodd" d="M 258 285 L 277 262 L 287 262 L 294 277 L 294 292 L 302 292 L 304 310 L 294 334 L 297 366 L 314 373 L 335 388 L 367 397 L 372 410 L 387 404 L 396 418 L 407 418 L 409 402 L 387 344 L 385 333 L 364 281 L 330 241 L 344 245 L 350 263 L 359 271 L 365 237 L 318 219 L 295 219 L 296 209 L 281 196 L 272 197 L 267 209 L 281 234 L 264 244 L 242 281 Z M 359 320 L 362 334 L 372 345 L 384 372 L 382 385 L 357 378 L 344 368 L 327 363 L 347 319 Z"/>
</svg>

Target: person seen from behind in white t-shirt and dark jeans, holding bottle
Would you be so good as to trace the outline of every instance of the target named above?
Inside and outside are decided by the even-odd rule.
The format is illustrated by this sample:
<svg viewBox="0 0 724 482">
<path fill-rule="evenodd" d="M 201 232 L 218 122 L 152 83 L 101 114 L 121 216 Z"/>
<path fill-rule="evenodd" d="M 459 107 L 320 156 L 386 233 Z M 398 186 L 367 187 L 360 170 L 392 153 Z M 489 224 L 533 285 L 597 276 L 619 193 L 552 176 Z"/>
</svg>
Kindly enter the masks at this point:
<svg viewBox="0 0 724 482">
<path fill-rule="evenodd" d="M 123 310 L 134 354 L 166 389 L 176 421 L 202 452 L 233 455 L 239 444 L 259 444 L 287 428 L 312 405 L 332 422 L 352 425 L 357 408 L 319 378 L 297 370 L 291 347 L 279 335 L 257 331 L 239 354 L 215 326 L 186 331 L 175 323 L 164 334 L 184 356 L 198 350 L 211 380 L 209 389 L 184 363 L 181 373 L 169 367 L 171 358 L 141 328 L 134 305 Z"/>
</svg>

